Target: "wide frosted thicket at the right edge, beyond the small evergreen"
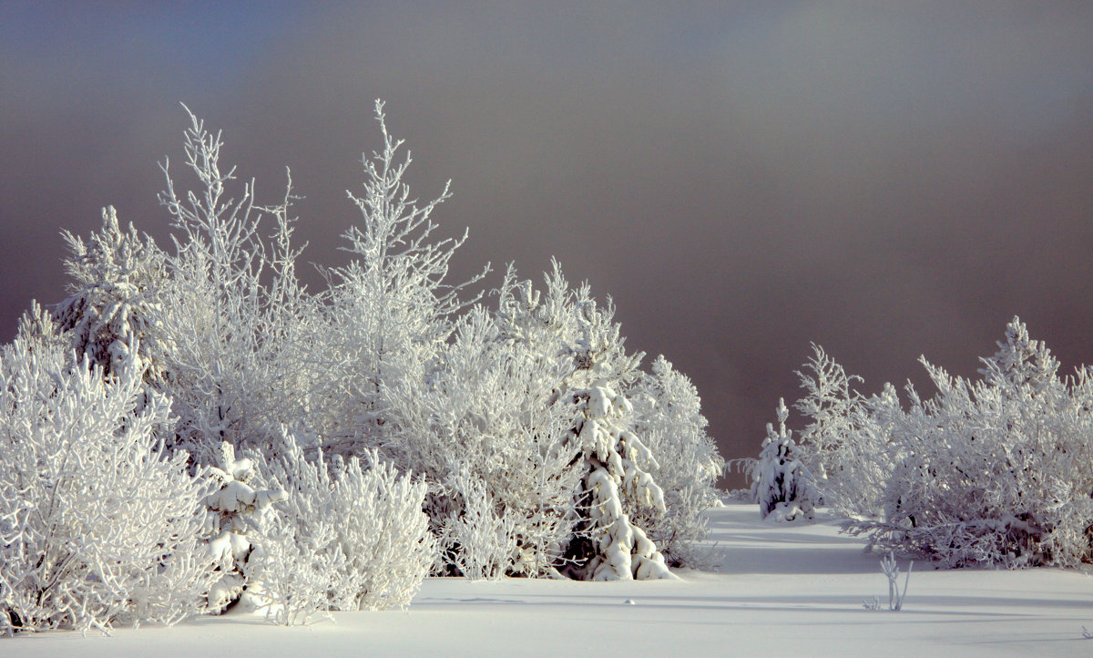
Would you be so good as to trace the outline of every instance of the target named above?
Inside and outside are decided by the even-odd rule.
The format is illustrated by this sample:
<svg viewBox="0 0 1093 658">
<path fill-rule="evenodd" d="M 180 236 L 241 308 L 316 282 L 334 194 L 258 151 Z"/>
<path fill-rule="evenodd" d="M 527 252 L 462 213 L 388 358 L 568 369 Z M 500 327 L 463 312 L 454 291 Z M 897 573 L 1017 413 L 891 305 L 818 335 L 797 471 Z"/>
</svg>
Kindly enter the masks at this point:
<svg viewBox="0 0 1093 658">
<path fill-rule="evenodd" d="M 944 566 L 1093 559 L 1093 372 L 1060 377 L 1019 318 L 998 345 L 982 379 L 920 359 L 937 393 L 924 399 L 908 385 L 907 409 L 891 385 L 865 398 L 813 380 L 799 408 L 813 420 L 809 447 L 826 453 L 813 458 L 837 465 L 825 483 L 848 531 Z M 818 360 L 813 372 L 847 380 L 819 349 Z M 831 412 L 832 399 L 849 402 Z"/>
</svg>

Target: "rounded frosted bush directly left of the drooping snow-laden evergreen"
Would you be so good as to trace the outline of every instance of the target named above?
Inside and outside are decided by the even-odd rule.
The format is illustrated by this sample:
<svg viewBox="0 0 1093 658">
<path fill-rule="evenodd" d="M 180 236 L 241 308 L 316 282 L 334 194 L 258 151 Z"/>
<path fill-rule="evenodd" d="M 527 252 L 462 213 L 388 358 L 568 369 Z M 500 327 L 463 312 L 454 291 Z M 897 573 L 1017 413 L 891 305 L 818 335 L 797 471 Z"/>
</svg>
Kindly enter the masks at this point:
<svg viewBox="0 0 1093 658">
<path fill-rule="evenodd" d="M 473 577 L 556 575 L 579 473 L 566 444 L 573 411 L 551 386 L 553 360 L 509 341 L 481 307 L 459 319 L 442 355 L 443 368 L 390 392 L 404 438 L 387 451 L 432 483 L 426 510 L 446 566 Z M 500 537 L 495 527 L 505 529 Z M 469 537 L 492 538 L 492 548 Z"/>
</svg>

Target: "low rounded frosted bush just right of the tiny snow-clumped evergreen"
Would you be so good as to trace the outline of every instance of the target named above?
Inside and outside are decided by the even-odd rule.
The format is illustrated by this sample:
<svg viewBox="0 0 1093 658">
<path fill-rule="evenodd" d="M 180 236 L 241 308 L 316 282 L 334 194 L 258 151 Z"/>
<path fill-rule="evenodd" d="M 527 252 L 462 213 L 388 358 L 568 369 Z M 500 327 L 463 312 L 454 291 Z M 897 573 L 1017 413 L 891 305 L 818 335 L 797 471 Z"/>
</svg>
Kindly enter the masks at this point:
<svg viewBox="0 0 1093 658">
<path fill-rule="evenodd" d="M 319 610 L 408 606 L 435 555 L 421 510 L 425 484 L 381 463 L 375 451 L 364 462 L 338 455 L 328 461 L 312 448 L 307 459 L 293 432 L 284 432 L 282 446 L 257 469 L 267 486 L 289 492 L 252 572 L 274 619 L 302 619 L 313 602 Z M 249 591 L 250 571 L 247 577 Z"/>
</svg>

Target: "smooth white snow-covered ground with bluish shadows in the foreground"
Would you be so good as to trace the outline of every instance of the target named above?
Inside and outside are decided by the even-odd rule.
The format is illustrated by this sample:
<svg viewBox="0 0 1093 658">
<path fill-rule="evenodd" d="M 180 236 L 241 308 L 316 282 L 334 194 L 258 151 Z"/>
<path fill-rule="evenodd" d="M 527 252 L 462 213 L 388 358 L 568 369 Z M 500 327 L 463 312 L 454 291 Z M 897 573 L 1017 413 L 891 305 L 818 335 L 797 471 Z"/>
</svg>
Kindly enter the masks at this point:
<svg viewBox="0 0 1093 658">
<path fill-rule="evenodd" d="M 709 512 L 719 573 L 678 581 L 427 579 L 406 612 L 279 627 L 228 614 L 172 628 L 0 639 L 14 656 L 1083 656 L 1093 579 L 1042 568 L 916 563 L 900 612 L 878 556 L 830 521 L 778 526 L 754 505 Z M 906 569 L 906 561 L 900 561 Z M 901 585 L 903 578 L 901 577 Z M 880 597 L 882 610 L 862 602 Z"/>
</svg>

